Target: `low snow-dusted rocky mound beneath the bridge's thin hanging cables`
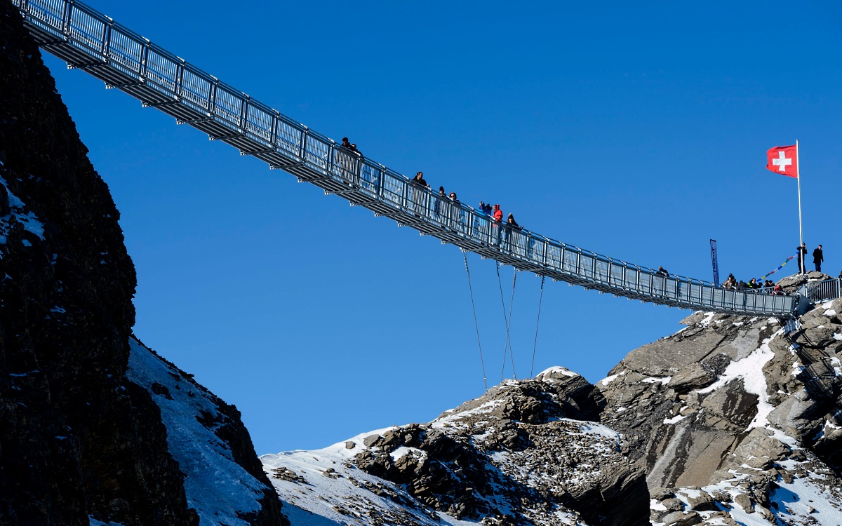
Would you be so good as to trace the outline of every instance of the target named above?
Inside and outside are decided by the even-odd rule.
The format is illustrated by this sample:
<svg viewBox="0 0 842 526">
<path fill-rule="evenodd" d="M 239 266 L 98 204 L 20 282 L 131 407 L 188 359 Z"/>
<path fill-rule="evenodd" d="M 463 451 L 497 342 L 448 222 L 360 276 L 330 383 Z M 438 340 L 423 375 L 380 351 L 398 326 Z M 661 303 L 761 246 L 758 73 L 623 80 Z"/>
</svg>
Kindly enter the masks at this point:
<svg viewBox="0 0 842 526">
<path fill-rule="evenodd" d="M 267 455 L 264 466 L 285 501 L 338 523 L 365 524 L 378 515 L 400 524 L 435 517 L 451 524 L 645 524 L 642 471 L 627 460 L 621 437 L 593 422 L 603 404 L 580 375 L 548 369 L 535 380 L 498 385 L 428 424 L 364 434 L 322 451 Z M 310 459 L 330 466 L 328 479 Z M 307 487 L 318 488 L 331 507 L 302 498 Z M 360 507 L 364 497 L 346 494 L 354 487 L 384 488 L 376 495 L 391 502 L 368 497 Z M 415 513 L 389 512 L 396 504 Z"/>
</svg>

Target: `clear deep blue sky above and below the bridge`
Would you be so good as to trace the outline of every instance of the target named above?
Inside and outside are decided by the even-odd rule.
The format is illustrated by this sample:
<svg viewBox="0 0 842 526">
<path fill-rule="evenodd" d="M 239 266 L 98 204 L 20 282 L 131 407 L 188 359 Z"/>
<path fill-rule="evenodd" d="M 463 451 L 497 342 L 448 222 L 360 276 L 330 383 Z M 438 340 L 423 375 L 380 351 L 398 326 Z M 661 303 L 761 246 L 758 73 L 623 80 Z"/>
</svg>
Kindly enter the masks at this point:
<svg viewBox="0 0 842 526">
<path fill-rule="evenodd" d="M 765 274 L 804 237 L 838 274 L 836 3 L 180 3 L 93 8 L 401 173 L 614 258 Z M 237 405 L 258 454 L 424 422 L 483 391 L 461 252 L 397 228 L 47 56 L 121 211 L 135 332 Z M 493 262 L 469 256 L 489 385 L 504 339 Z M 791 274 L 787 266 L 776 276 Z M 789 272 L 787 272 L 789 271 Z M 502 268 L 505 301 L 512 270 Z M 532 367 L 540 279 L 511 337 Z M 547 283 L 534 373 L 594 382 L 690 314 Z"/>
</svg>

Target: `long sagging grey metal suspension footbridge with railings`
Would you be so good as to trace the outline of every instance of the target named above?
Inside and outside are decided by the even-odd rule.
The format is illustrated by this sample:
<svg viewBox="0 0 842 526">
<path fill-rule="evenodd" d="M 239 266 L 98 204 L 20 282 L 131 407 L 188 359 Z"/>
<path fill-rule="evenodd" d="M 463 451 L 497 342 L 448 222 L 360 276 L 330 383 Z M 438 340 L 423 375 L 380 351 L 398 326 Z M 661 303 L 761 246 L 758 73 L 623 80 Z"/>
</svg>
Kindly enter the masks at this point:
<svg viewBox="0 0 842 526">
<path fill-rule="evenodd" d="M 515 268 L 555 280 L 667 306 L 731 314 L 792 316 L 797 296 L 724 290 L 699 279 L 662 276 L 527 230 L 409 183 L 332 139 L 232 88 L 102 13 L 73 0 L 12 0 L 38 44 L 51 54 L 170 114 L 211 140 L 237 147 L 316 184 L 439 238 Z"/>
</svg>

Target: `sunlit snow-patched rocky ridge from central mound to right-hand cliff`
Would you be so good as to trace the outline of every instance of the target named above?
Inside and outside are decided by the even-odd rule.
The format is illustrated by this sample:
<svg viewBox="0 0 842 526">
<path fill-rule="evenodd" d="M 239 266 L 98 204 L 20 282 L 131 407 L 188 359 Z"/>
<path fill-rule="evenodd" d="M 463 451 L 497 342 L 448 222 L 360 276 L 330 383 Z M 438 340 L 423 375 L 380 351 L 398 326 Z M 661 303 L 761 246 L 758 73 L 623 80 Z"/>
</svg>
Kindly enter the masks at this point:
<svg viewBox="0 0 842 526">
<path fill-rule="evenodd" d="M 840 312 L 698 312 L 596 386 L 548 369 L 264 469 L 302 524 L 839 524 Z"/>
</svg>

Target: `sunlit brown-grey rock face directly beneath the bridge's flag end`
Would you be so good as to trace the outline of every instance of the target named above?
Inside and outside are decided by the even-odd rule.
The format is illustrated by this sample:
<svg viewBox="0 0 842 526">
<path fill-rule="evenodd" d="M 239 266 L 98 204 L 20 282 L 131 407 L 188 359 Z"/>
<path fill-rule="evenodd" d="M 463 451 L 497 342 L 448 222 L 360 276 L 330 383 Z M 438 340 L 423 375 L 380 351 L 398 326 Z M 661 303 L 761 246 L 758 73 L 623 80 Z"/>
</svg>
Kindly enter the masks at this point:
<svg viewBox="0 0 842 526">
<path fill-rule="evenodd" d="M 839 308 L 817 306 L 790 334 L 775 319 L 696 313 L 597 384 L 602 422 L 623 433 L 647 474 L 654 522 L 733 523 L 716 511 L 733 502 L 770 523 L 809 522 L 815 509 L 781 508 L 781 495 L 798 493 L 790 488 L 839 507 Z"/>
</svg>

